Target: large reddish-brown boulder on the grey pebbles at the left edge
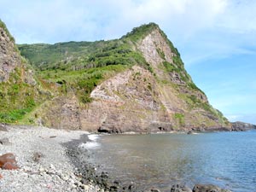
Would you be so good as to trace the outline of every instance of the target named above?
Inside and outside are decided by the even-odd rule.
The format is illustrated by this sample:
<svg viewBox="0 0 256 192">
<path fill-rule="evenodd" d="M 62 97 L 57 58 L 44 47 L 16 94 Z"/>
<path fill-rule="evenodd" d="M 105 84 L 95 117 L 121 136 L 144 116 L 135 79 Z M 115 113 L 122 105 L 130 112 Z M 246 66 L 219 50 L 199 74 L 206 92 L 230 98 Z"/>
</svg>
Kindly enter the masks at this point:
<svg viewBox="0 0 256 192">
<path fill-rule="evenodd" d="M 15 155 L 8 153 L 0 156 L 0 168 L 7 170 L 18 169 L 17 161 L 15 160 Z"/>
</svg>

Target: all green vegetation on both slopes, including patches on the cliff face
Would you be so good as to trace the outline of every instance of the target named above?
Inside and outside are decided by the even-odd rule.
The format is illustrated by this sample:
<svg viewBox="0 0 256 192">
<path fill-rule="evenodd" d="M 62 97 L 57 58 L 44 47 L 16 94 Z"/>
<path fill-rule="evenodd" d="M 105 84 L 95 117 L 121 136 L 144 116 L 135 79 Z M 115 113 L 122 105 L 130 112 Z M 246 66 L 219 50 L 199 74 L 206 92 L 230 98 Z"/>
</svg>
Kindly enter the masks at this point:
<svg viewBox="0 0 256 192">
<path fill-rule="evenodd" d="M 0 27 L 3 27 L 11 37 L 1 20 Z M 156 49 L 163 60 L 160 69 L 164 70 L 166 74 L 177 73 L 184 84 L 172 84 L 169 79 L 165 79 L 163 82 L 172 85 L 177 91 L 181 90 L 181 86 L 189 91 L 191 90 L 189 94 L 181 94 L 189 109 L 204 108 L 207 112 L 215 115 L 214 117 L 223 118 L 223 115 L 213 109 L 208 102 L 203 102 L 196 96 L 198 91 L 202 91 L 196 87 L 189 74 L 186 73 L 177 49 L 166 37 L 166 34 L 160 30 L 159 26 L 150 23 L 136 27 L 122 38 L 115 40 L 18 45 L 20 54 L 26 57 L 34 68 L 38 77 L 38 85 L 26 84 L 22 80 L 22 73 L 19 70 L 15 70 L 10 75 L 8 82 L 1 83 L 0 121 L 16 123 L 24 116 L 29 119 L 29 115 L 35 108 L 53 97 L 50 94 L 51 91 L 55 92 L 55 96 L 73 96 L 74 94 L 79 99 L 80 107 L 83 107 L 84 104 L 92 102 L 90 93 L 98 84 L 134 65 L 141 66 L 157 76 L 157 71 L 154 72 L 153 67 L 148 64 L 143 54 L 137 49 L 137 44 L 154 29 L 159 30 L 173 53 L 172 62 L 168 62 L 164 51 Z M 21 60 L 23 64 L 26 64 L 26 60 L 22 58 Z M 148 80 L 142 79 L 140 73 L 136 73 L 134 79 L 141 79 L 147 84 L 148 90 L 154 91 L 154 84 L 147 83 Z M 41 89 L 49 92 L 45 95 Z M 176 119 L 177 125 L 185 125 L 183 113 L 175 113 L 173 118 Z"/>
</svg>

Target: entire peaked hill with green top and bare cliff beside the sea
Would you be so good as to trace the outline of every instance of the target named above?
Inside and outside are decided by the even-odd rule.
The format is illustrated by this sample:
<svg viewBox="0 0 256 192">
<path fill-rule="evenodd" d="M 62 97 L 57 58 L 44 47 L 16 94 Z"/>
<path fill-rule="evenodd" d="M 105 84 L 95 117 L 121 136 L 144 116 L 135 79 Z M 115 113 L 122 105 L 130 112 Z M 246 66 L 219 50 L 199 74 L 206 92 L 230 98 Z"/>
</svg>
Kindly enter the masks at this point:
<svg viewBox="0 0 256 192">
<path fill-rule="evenodd" d="M 30 121 L 106 132 L 230 127 L 154 23 L 111 41 L 20 44 L 19 49 L 39 79 L 59 87 L 59 95 L 34 110 Z"/>
</svg>

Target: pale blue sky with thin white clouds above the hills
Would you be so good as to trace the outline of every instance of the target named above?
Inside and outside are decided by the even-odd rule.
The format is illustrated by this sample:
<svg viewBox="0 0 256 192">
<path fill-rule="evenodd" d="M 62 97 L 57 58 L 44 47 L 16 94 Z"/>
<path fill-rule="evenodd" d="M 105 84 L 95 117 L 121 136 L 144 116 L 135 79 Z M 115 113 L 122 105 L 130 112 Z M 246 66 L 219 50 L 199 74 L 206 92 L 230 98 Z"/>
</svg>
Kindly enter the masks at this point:
<svg viewBox="0 0 256 192">
<path fill-rule="evenodd" d="M 256 124 L 255 0 L 0 0 L 17 44 L 120 38 L 157 23 L 214 108 Z"/>
</svg>

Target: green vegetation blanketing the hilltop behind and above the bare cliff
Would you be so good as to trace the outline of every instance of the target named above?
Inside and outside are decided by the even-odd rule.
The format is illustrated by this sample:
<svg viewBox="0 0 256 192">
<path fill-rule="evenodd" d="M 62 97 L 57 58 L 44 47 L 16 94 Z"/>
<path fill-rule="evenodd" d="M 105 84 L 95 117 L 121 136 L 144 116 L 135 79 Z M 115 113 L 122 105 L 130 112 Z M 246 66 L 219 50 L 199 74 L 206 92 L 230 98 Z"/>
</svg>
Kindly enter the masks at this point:
<svg viewBox="0 0 256 192">
<path fill-rule="evenodd" d="M 139 65 L 154 73 L 136 41 L 151 32 L 156 24 L 134 28 L 120 39 L 59 44 L 20 44 L 21 55 L 35 67 L 39 79 L 59 86 L 61 94 L 73 91 L 81 103 L 91 102 L 90 92 L 103 80 L 126 68 Z M 43 81 L 43 82 L 44 82 Z"/>
</svg>

